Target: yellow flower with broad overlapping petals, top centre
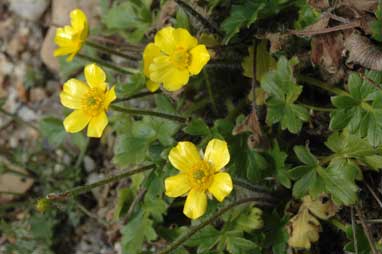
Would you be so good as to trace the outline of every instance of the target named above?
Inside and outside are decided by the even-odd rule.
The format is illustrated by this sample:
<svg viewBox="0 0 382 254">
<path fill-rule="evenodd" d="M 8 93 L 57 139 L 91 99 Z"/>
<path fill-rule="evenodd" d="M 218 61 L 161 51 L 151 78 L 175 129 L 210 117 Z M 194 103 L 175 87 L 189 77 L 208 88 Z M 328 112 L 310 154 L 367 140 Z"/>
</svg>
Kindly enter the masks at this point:
<svg viewBox="0 0 382 254">
<path fill-rule="evenodd" d="M 205 45 L 183 28 L 165 27 L 143 52 L 144 74 L 150 79 L 146 84 L 155 91 L 162 83 L 168 91 L 186 85 L 192 75 L 197 75 L 210 60 Z"/>
</svg>

